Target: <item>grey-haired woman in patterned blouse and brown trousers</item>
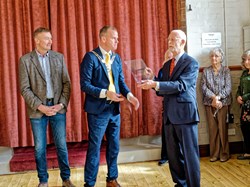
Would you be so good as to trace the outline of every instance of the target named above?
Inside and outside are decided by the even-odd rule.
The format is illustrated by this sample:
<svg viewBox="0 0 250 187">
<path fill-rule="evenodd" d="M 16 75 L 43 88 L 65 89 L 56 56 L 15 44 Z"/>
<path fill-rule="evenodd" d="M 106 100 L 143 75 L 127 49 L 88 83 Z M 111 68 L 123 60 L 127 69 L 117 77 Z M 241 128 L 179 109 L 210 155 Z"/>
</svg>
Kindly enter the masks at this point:
<svg viewBox="0 0 250 187">
<path fill-rule="evenodd" d="M 201 87 L 209 127 L 210 161 L 229 159 L 228 124 L 226 118 L 231 104 L 231 75 L 224 66 L 221 48 L 210 51 L 211 66 L 203 71 Z"/>
</svg>

